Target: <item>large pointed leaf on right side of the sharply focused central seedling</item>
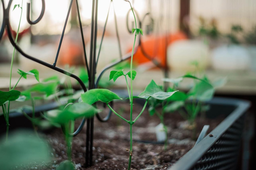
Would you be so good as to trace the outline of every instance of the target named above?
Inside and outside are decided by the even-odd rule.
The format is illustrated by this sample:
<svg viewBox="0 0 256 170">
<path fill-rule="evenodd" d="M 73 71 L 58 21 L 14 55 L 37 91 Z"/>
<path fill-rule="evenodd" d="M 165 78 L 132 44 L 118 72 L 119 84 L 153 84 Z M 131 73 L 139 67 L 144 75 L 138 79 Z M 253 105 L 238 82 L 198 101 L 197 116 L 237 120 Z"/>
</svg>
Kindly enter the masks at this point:
<svg viewBox="0 0 256 170">
<path fill-rule="evenodd" d="M 177 91 L 163 92 L 162 89 L 154 82 L 154 80 L 151 80 L 151 82 L 146 86 L 145 90 L 141 92 L 141 94 L 139 94 L 138 97 L 144 99 L 153 97 L 158 100 L 165 100 L 176 92 Z"/>
</svg>

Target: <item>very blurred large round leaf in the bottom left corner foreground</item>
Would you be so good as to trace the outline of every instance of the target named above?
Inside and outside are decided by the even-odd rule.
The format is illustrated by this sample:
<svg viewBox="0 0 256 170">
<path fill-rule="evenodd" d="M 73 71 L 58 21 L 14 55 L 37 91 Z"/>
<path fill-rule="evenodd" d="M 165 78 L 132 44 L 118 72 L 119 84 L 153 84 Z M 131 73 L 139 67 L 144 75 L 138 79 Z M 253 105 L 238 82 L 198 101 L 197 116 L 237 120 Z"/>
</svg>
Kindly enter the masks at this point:
<svg viewBox="0 0 256 170">
<path fill-rule="evenodd" d="M 36 163 L 48 164 L 51 160 L 49 145 L 32 131 L 15 131 L 9 135 L 8 142 L 2 138 L 0 150 L 0 165 L 3 170 L 24 169 L 28 165 L 34 167 Z"/>
</svg>

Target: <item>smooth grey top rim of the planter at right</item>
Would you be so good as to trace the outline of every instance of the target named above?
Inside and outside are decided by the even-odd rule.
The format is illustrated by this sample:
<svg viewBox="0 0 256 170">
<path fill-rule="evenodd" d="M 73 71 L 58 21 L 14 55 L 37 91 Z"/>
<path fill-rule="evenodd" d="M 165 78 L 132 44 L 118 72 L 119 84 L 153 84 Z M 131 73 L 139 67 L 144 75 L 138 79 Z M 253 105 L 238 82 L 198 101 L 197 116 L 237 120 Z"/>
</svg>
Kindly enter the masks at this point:
<svg viewBox="0 0 256 170">
<path fill-rule="evenodd" d="M 223 103 L 226 105 L 235 105 L 236 109 L 230 113 L 215 129 L 213 129 L 209 134 L 203 138 L 197 145 L 195 145 L 189 152 L 187 152 L 183 157 L 181 157 L 172 167 L 168 170 L 188 170 L 191 169 L 197 161 L 210 149 L 212 145 L 218 141 L 227 129 L 232 126 L 236 120 L 238 120 L 247 109 L 250 107 L 250 102 L 240 99 L 233 98 L 222 98 L 214 97 L 209 103 Z"/>
</svg>

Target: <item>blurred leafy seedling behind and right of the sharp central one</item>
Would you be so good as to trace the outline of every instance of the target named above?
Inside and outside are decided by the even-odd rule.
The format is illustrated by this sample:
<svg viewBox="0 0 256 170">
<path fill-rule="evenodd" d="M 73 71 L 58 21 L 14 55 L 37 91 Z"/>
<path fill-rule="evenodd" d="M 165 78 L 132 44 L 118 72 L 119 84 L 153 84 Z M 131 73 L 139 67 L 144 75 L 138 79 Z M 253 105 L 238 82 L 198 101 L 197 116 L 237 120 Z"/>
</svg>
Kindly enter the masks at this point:
<svg viewBox="0 0 256 170">
<path fill-rule="evenodd" d="M 169 97 L 162 104 L 162 115 L 167 112 L 179 111 L 181 116 L 188 120 L 191 129 L 193 129 L 192 138 L 195 139 L 195 118 L 197 117 L 199 112 L 202 112 L 207 107 L 204 107 L 204 102 L 212 99 L 214 95 L 214 87 L 210 84 L 210 81 L 205 76 L 204 78 L 197 78 L 196 76 L 187 74 L 177 79 L 163 79 L 165 82 L 173 83 L 172 88 L 168 88 L 167 92 L 175 91 L 178 83 L 180 83 L 184 78 L 192 78 L 194 80 L 193 87 L 189 90 L 189 92 L 185 93 L 179 91 Z M 158 103 L 153 103 L 152 107 L 154 110 L 154 106 Z M 185 109 L 186 112 L 183 111 Z"/>
</svg>

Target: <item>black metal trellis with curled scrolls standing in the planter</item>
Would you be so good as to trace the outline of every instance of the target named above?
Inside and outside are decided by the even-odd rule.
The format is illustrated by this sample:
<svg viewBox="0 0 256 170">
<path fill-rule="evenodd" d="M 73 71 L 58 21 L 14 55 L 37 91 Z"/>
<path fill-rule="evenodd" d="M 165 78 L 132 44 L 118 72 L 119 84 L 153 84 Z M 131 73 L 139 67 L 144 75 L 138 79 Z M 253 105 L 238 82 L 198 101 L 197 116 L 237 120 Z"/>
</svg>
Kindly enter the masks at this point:
<svg viewBox="0 0 256 170">
<path fill-rule="evenodd" d="M 18 44 L 15 43 L 14 39 L 13 39 L 13 35 L 12 35 L 12 31 L 11 31 L 11 25 L 10 25 L 10 18 L 9 18 L 9 13 L 10 13 L 10 8 L 11 8 L 11 4 L 12 4 L 13 0 L 10 0 L 9 3 L 8 3 L 8 6 L 7 8 L 5 9 L 5 4 L 4 4 L 4 0 L 1 0 L 1 3 L 2 3 L 2 6 L 3 6 L 3 23 L 1 25 L 1 30 L 0 30 L 0 40 L 3 36 L 3 33 L 4 33 L 4 30 L 6 29 L 7 31 L 7 35 L 8 35 L 8 38 L 9 38 L 9 41 L 11 42 L 11 44 L 15 47 L 15 49 L 24 57 L 32 60 L 32 61 L 35 61 L 39 64 L 42 64 L 50 69 L 53 69 L 55 71 L 58 71 L 60 73 L 63 73 L 67 76 L 70 76 L 70 77 L 73 77 L 75 78 L 81 88 L 84 90 L 84 92 L 87 91 L 87 88 L 86 86 L 84 85 L 84 83 L 82 82 L 82 80 L 75 74 L 73 73 L 70 73 L 69 71 L 66 71 L 64 69 L 61 69 L 59 67 L 56 67 L 56 64 L 57 64 L 57 59 L 58 59 L 58 55 L 59 55 L 59 50 L 61 48 L 61 44 L 62 44 L 62 40 L 63 40 L 63 37 L 64 37 L 64 33 L 65 33 L 65 28 L 66 28 L 66 25 L 67 25 L 67 22 L 68 22 L 68 18 L 69 18 L 69 14 L 70 14 L 70 10 L 71 10 L 71 6 L 73 4 L 73 0 L 70 1 L 70 5 L 69 5 L 69 8 L 68 8 L 68 11 L 67 11 L 67 16 L 66 16 L 66 20 L 65 20 L 65 23 L 64 23 L 64 26 L 63 26 L 63 31 L 62 31 L 62 34 L 61 34 L 61 38 L 60 38 L 60 41 L 59 41 L 59 46 L 58 46 L 58 49 L 57 49 L 57 54 L 55 56 L 55 62 L 53 64 L 50 64 L 50 63 L 47 63 L 45 61 L 42 61 L 40 59 L 37 59 L 33 56 L 30 56 L 28 54 L 26 54 L 19 46 Z M 110 5 L 113 5 L 114 1 L 111 0 L 110 1 Z M 117 18 L 116 18 L 116 14 L 115 14 L 115 10 L 113 8 L 113 12 L 114 12 L 114 19 L 115 19 L 115 31 L 116 31 L 116 36 L 117 36 L 117 42 L 118 42 L 118 50 L 119 50 L 119 60 L 110 64 L 110 65 L 107 65 L 99 74 L 98 78 L 96 78 L 96 67 L 97 67 L 97 63 L 99 61 L 99 56 L 100 56 L 100 49 L 101 49 L 101 46 L 102 46 L 102 42 L 103 42 L 103 39 L 104 39 L 104 35 L 105 35 L 105 30 L 106 30 L 106 25 L 107 25 L 107 21 L 108 21 L 108 15 L 107 15 L 107 18 L 106 18 L 106 22 L 105 22 L 105 25 L 104 25 L 104 31 L 103 31 L 103 35 L 102 35 L 102 39 L 101 39 L 101 43 L 100 43 L 100 47 L 99 47 L 99 52 L 98 52 L 98 55 L 96 56 L 96 39 L 97 39 L 97 16 L 98 16 L 98 0 L 92 0 L 92 17 L 91 17 L 91 40 L 90 40 L 90 63 L 88 63 L 87 61 L 87 55 L 86 55 L 86 50 L 85 50 L 85 40 L 84 40 L 84 34 L 83 34 L 83 30 L 82 30 L 82 22 L 81 22 L 81 18 L 80 18 L 80 12 L 79 12 L 79 4 L 78 4 L 78 0 L 76 0 L 76 7 L 77 7 L 77 13 L 78 13 L 78 21 L 79 21 L 79 27 L 80 27 L 80 34 L 81 34 L 81 40 L 82 40 L 82 45 L 83 45 L 83 53 L 84 53 L 84 60 L 85 60 L 85 65 L 86 65 L 86 69 L 87 69 L 87 72 L 88 72 L 88 77 L 89 77 L 89 89 L 93 89 L 93 88 L 98 88 L 98 84 L 99 84 L 99 81 L 102 77 L 102 75 L 105 73 L 106 70 L 114 67 L 115 65 L 117 65 L 118 63 L 122 62 L 122 61 L 125 61 L 129 58 L 131 58 L 131 54 L 126 54 L 126 55 L 122 55 L 121 53 L 121 44 L 120 44 L 120 39 L 119 39 L 119 33 L 118 33 L 118 29 L 117 29 Z M 44 16 L 44 12 L 45 12 L 45 1 L 42 0 L 42 9 L 41 9 L 41 13 L 39 15 L 39 17 L 32 21 L 30 19 L 30 3 L 27 3 L 27 16 L 26 16 L 26 19 L 27 19 L 27 22 L 30 24 L 30 25 L 34 25 L 34 24 L 37 24 L 38 22 L 40 22 L 40 20 L 43 18 Z M 110 8 L 108 9 L 108 13 L 110 11 Z M 128 27 L 128 14 L 129 14 L 129 11 L 127 13 L 127 29 L 128 31 L 130 32 L 131 30 L 129 30 L 129 27 Z M 139 21 L 139 25 L 140 27 L 142 26 L 143 22 L 144 22 L 144 18 L 146 16 L 150 16 L 150 19 L 151 21 L 153 21 L 152 19 L 152 16 L 149 14 L 149 13 L 146 13 L 145 16 L 143 17 L 143 20 L 139 20 L 139 16 L 137 15 L 138 17 L 138 21 Z M 161 68 L 162 70 L 164 71 L 167 71 L 167 67 L 161 65 L 159 62 L 157 62 L 154 57 L 156 54 L 154 54 L 153 56 L 149 56 L 148 54 L 146 54 L 143 46 L 142 46 L 142 42 L 141 42 L 141 36 L 139 36 L 139 45 L 135 47 L 135 50 L 134 50 L 134 54 L 136 53 L 137 49 L 138 48 L 141 48 L 142 52 L 143 52 L 143 55 L 150 59 L 151 61 L 153 61 L 153 63 Z M 104 54 L 102 54 L 104 55 Z M 113 102 L 110 103 L 111 105 L 113 105 Z M 112 111 L 110 110 L 108 115 L 105 117 L 105 118 L 101 118 L 99 114 L 96 114 L 96 117 L 98 118 L 98 120 L 100 120 L 101 122 L 106 122 L 110 119 L 110 116 L 112 114 Z M 70 134 L 71 136 L 75 136 L 77 135 L 78 133 L 80 133 L 80 131 L 82 130 L 84 124 L 86 122 L 86 119 L 83 118 L 82 122 L 80 123 L 79 127 L 75 130 L 74 133 Z M 86 166 L 90 166 L 92 165 L 92 144 L 93 144 L 93 128 L 94 128 L 94 118 L 89 118 L 87 119 L 87 129 L 86 129 L 86 156 L 85 156 L 85 159 L 86 159 Z"/>
</svg>

